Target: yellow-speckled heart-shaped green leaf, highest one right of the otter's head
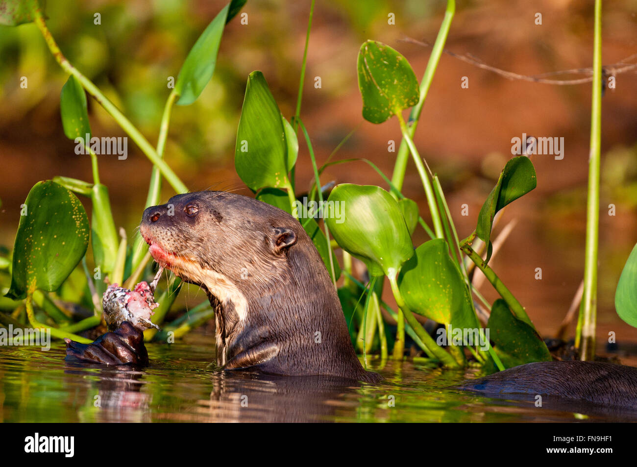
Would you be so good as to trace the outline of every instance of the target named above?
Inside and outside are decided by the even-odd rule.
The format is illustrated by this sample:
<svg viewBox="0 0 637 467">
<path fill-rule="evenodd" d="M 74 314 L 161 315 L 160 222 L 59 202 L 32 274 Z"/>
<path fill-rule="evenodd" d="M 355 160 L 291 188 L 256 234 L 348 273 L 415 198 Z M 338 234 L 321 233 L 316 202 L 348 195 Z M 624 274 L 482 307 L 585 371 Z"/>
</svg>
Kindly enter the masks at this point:
<svg viewBox="0 0 637 467">
<path fill-rule="evenodd" d="M 389 45 L 364 42 L 358 56 L 362 116 L 382 123 L 418 103 L 418 80 L 409 62 Z"/>
</svg>

